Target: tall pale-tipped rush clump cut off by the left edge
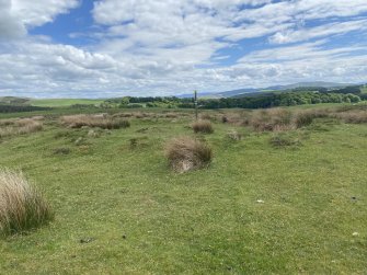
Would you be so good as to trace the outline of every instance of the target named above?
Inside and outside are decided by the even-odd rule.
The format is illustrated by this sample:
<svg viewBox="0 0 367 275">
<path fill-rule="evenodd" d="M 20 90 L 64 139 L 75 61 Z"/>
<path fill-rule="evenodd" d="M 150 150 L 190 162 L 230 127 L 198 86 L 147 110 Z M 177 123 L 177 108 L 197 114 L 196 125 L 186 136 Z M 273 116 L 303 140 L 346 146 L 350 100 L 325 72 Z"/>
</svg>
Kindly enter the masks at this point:
<svg viewBox="0 0 367 275">
<path fill-rule="evenodd" d="M 0 236 L 21 233 L 54 218 L 41 192 L 20 172 L 0 170 Z"/>
</svg>

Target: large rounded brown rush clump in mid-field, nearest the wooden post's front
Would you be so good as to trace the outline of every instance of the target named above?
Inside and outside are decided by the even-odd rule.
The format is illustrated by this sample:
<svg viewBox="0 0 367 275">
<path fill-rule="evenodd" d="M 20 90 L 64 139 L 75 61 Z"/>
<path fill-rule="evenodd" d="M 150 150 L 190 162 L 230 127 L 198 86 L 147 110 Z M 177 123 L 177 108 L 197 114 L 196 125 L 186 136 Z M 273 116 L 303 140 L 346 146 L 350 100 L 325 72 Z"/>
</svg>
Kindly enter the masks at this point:
<svg viewBox="0 0 367 275">
<path fill-rule="evenodd" d="M 172 139 L 165 147 L 165 156 L 176 172 L 186 172 L 207 167 L 211 161 L 211 148 L 191 137 Z"/>
</svg>

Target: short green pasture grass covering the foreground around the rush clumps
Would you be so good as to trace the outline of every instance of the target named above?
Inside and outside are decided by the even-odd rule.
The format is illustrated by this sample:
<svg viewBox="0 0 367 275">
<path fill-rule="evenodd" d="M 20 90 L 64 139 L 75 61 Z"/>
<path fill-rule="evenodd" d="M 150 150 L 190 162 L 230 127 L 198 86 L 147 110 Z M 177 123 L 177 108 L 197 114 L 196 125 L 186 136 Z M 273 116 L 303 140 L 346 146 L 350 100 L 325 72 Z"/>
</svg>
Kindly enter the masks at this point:
<svg viewBox="0 0 367 275">
<path fill-rule="evenodd" d="M 174 174 L 162 145 L 192 135 L 186 124 L 133 121 L 79 147 L 55 134 L 76 138 L 87 130 L 49 125 L 1 142 L 0 165 L 37 182 L 56 220 L 0 241 L 0 273 L 367 272 L 366 125 L 321 123 L 324 130 L 308 130 L 303 146 L 291 150 L 272 148 L 269 134 L 230 142 L 223 137 L 233 127 L 216 124 L 206 137 L 211 167 Z M 135 150 L 133 137 L 142 138 Z M 58 147 L 71 153 L 53 154 Z M 94 241 L 80 242 L 88 238 Z"/>
</svg>

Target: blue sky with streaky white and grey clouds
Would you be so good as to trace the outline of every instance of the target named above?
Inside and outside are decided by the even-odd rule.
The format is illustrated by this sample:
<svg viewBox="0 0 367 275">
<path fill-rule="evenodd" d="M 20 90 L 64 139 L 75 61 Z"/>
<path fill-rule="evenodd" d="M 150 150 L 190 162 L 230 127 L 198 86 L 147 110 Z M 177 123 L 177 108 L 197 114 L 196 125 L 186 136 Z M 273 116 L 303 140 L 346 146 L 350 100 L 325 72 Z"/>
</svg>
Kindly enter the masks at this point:
<svg viewBox="0 0 367 275">
<path fill-rule="evenodd" d="M 0 96 L 367 82 L 367 0 L 0 0 Z"/>
</svg>

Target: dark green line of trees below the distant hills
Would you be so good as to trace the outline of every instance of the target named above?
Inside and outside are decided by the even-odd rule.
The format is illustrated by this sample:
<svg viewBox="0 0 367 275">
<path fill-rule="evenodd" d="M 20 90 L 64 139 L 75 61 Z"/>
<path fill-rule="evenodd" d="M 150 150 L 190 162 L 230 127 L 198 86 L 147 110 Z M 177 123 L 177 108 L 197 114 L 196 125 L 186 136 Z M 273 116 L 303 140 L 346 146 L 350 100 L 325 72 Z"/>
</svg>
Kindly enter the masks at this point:
<svg viewBox="0 0 367 275">
<path fill-rule="evenodd" d="M 359 87 L 346 87 L 328 90 L 325 88 L 296 88 L 288 91 L 259 92 L 250 95 L 242 94 L 233 98 L 200 99 L 202 108 L 266 108 L 276 106 L 294 106 L 319 103 L 357 103 L 367 100 Z M 147 96 L 111 99 L 105 101 L 103 107 L 181 107 L 193 108 L 194 100 L 176 96 Z"/>
</svg>

